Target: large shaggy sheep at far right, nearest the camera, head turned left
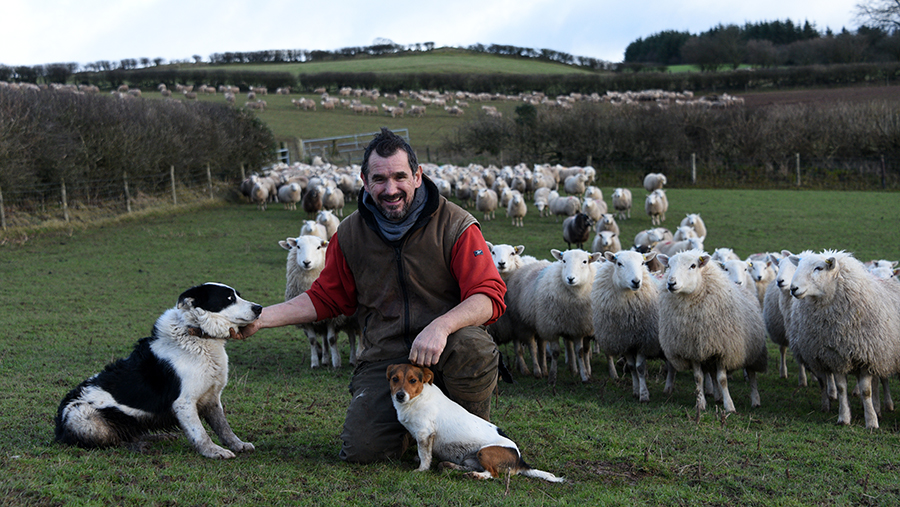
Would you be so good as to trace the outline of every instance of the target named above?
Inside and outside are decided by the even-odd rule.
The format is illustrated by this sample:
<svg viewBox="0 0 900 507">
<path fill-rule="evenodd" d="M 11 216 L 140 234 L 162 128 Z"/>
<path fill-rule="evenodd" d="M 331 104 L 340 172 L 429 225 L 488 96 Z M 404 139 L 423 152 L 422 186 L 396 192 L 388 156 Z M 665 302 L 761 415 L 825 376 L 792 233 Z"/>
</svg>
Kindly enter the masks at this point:
<svg viewBox="0 0 900 507">
<path fill-rule="evenodd" d="M 871 276 L 844 251 L 791 255 L 795 298 L 791 351 L 817 373 L 834 375 L 838 424 L 850 424 L 847 374 L 857 375 L 867 429 L 878 428 L 872 377 L 900 372 L 900 284 Z"/>
</svg>

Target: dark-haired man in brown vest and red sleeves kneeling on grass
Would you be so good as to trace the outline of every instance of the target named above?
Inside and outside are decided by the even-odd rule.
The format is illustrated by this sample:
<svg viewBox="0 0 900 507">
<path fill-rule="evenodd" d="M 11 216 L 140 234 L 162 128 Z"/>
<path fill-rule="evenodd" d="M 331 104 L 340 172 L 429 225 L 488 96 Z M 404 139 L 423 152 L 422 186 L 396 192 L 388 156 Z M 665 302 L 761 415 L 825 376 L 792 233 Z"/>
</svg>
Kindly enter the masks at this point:
<svg viewBox="0 0 900 507">
<path fill-rule="evenodd" d="M 439 194 L 403 138 L 382 128 L 361 172 L 359 209 L 332 237 L 318 280 L 264 308 L 240 337 L 355 312 L 362 351 L 340 456 L 368 463 L 399 458 L 411 441 L 391 403 L 390 364 L 431 368 L 450 398 L 490 417 L 499 352 L 482 326 L 502 315 L 506 286 L 475 218 Z"/>
</svg>

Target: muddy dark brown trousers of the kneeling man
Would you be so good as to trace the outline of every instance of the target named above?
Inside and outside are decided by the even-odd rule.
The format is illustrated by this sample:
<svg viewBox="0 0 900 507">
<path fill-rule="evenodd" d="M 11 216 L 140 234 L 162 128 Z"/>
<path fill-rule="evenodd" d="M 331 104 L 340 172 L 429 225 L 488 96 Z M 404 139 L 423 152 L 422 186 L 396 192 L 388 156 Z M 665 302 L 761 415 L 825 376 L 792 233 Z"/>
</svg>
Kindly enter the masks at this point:
<svg viewBox="0 0 900 507">
<path fill-rule="evenodd" d="M 489 417 L 497 386 L 499 351 L 482 327 L 466 327 L 447 338 L 440 361 L 430 369 L 435 384 L 470 412 Z M 350 406 L 341 432 L 340 458 L 352 463 L 400 459 L 410 443 L 391 401 L 387 367 L 406 357 L 357 366 L 350 380 Z"/>
</svg>

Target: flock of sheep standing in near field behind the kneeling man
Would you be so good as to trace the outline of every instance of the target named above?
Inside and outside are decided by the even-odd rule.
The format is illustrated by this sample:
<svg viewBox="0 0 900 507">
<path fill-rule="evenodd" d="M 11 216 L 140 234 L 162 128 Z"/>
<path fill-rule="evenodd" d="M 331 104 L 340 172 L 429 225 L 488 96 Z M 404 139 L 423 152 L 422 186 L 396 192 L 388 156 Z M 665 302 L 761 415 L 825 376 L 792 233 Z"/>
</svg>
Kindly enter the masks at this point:
<svg viewBox="0 0 900 507">
<path fill-rule="evenodd" d="M 608 213 L 602 193 L 591 185 L 593 168 L 428 165 L 425 170 L 443 195 L 474 205 L 483 220 L 494 219 L 497 208 L 519 226 L 529 208 L 541 216 L 565 217 L 562 232 L 569 249 L 551 250 L 553 260 L 525 255 L 521 245 L 488 243 L 507 284 L 507 311 L 488 331 L 498 343 L 514 344 L 520 373 L 556 382 L 564 351 L 571 374 L 587 382 L 592 355 L 602 354 L 609 375 L 618 377 L 624 364 L 633 395 L 647 402 L 647 361 L 661 360 L 667 369 L 664 393 L 673 391 L 676 371 L 689 371 L 698 410 L 712 394 L 725 412 L 734 412 L 728 390 L 732 372 L 741 371 L 747 380 L 750 405 L 761 404 L 757 374 L 767 369 L 768 337 L 780 349 L 780 376 L 787 377 L 790 349 L 801 385 L 807 370 L 819 382 L 822 409 L 838 402 L 839 423 L 850 424 L 848 374 L 858 377 L 867 428 L 878 427 L 879 386 L 885 408 L 893 410 L 887 380 L 900 374 L 897 262 L 864 264 L 840 251 L 770 252 L 744 260 L 728 248 L 707 253 L 706 226 L 698 214 L 687 215 L 674 233 L 659 226 L 668 207 L 662 174 L 644 180 L 645 211 L 657 227 L 641 231 L 623 248 L 617 220 L 629 218 L 631 192 L 616 189 L 615 213 Z M 335 191 L 349 200 L 360 191 L 358 174 L 355 166 L 281 165 L 248 178 L 243 191 L 261 209 L 269 196 L 280 196 L 281 188 L 292 184 L 302 190 L 296 202 L 310 193 Z M 255 189 L 267 184 L 273 189 L 263 199 Z M 335 215 L 343 203 L 314 201 L 303 206 L 309 220 L 301 235 L 280 242 L 288 250 L 287 299 L 308 288 L 321 271 L 339 223 Z M 594 241 L 584 249 L 591 233 Z M 307 329 L 313 367 L 329 353 L 331 365 L 340 366 L 339 331 L 350 336 L 355 355 L 354 319 Z M 317 336 L 325 338 L 324 347 Z"/>
</svg>

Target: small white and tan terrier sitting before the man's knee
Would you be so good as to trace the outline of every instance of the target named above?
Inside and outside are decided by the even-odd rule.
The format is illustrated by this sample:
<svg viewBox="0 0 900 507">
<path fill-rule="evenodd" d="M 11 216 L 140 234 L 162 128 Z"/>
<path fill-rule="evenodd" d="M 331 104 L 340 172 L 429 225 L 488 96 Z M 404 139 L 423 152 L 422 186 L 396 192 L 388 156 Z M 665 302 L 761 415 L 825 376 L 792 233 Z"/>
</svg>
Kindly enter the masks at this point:
<svg viewBox="0 0 900 507">
<path fill-rule="evenodd" d="M 531 468 L 516 443 L 496 425 L 469 413 L 433 384 L 434 373 L 411 364 L 387 368 L 391 399 L 400 423 L 415 437 L 419 468 L 431 468 L 431 457 L 441 466 L 469 472 L 474 479 L 490 479 L 509 472 L 550 482 L 564 479 Z"/>
</svg>

